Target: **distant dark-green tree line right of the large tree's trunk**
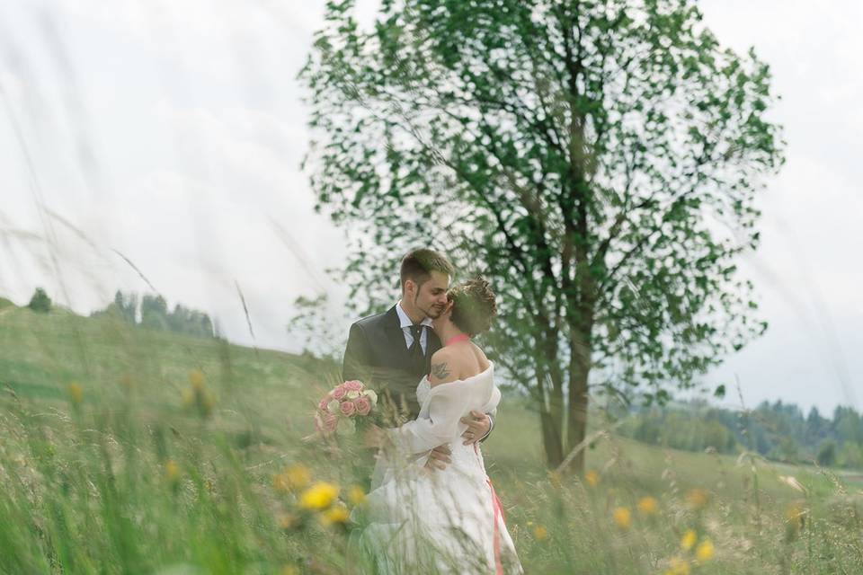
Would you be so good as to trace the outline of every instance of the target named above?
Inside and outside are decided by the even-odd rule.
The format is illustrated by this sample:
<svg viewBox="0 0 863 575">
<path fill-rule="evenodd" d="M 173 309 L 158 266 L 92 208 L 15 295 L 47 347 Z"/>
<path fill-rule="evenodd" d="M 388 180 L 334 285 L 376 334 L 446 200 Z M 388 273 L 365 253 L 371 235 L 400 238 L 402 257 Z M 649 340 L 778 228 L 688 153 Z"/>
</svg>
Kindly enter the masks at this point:
<svg viewBox="0 0 863 575">
<path fill-rule="evenodd" d="M 634 408 L 621 433 L 645 443 L 688 451 L 713 447 L 743 449 L 787 463 L 863 468 L 863 419 L 851 407 L 832 417 L 817 408 L 807 415 L 794 403 L 763 402 L 752 411 L 733 411 L 703 401 Z"/>
</svg>

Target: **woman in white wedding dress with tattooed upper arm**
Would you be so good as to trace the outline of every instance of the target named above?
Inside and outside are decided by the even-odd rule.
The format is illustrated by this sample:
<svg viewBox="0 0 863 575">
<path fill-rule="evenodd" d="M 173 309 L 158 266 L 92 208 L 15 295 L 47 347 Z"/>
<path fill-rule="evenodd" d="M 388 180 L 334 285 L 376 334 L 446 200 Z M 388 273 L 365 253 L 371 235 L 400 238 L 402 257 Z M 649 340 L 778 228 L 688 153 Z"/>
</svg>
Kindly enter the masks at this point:
<svg viewBox="0 0 863 575">
<path fill-rule="evenodd" d="M 416 420 L 379 430 L 381 447 L 360 535 L 378 573 L 520 573 L 501 503 L 479 444 L 464 445 L 470 411 L 494 411 L 494 364 L 470 338 L 496 313 L 485 279 L 452 288 L 432 329 L 443 348 L 416 388 Z M 451 464 L 429 471 L 430 450 L 450 445 Z"/>
</svg>

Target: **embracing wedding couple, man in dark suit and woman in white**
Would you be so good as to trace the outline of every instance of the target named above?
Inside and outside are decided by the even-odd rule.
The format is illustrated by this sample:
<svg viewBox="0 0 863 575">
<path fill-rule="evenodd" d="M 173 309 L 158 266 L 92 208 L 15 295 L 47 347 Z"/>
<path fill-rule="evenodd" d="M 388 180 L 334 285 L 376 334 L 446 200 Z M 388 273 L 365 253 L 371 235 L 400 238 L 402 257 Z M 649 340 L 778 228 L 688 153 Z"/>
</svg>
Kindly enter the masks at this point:
<svg viewBox="0 0 863 575">
<path fill-rule="evenodd" d="M 370 491 L 351 544 L 376 573 L 521 572 L 480 447 L 501 393 L 473 338 L 493 329 L 495 296 L 453 274 L 438 252 L 405 255 L 401 298 L 351 325 L 344 352 L 344 379 L 376 389 L 387 416 L 356 464 Z"/>
</svg>

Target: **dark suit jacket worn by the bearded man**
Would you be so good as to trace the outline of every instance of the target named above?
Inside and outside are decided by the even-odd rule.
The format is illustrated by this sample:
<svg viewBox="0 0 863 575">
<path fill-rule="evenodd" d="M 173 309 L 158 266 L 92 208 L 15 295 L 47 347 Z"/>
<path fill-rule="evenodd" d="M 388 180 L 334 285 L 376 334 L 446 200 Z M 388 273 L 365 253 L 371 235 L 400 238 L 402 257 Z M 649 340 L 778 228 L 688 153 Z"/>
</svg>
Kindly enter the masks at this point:
<svg viewBox="0 0 863 575">
<path fill-rule="evenodd" d="M 359 379 L 378 393 L 385 406 L 406 409 L 407 419 L 420 413 L 416 401 L 416 385 L 429 373 L 432 354 L 440 349 L 440 339 L 431 327 L 427 332 L 425 361 L 414 361 L 405 343 L 396 306 L 383 314 L 372 315 L 351 325 L 348 345 L 344 349 L 342 376 L 345 380 Z"/>
</svg>

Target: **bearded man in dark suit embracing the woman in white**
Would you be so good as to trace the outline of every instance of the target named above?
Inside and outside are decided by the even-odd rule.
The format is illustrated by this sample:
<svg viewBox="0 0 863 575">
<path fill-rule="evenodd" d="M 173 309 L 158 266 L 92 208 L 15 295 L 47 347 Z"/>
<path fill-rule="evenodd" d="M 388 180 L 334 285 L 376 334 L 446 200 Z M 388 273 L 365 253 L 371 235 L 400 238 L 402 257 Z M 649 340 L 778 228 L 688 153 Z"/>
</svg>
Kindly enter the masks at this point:
<svg viewBox="0 0 863 575">
<path fill-rule="evenodd" d="M 393 425 L 419 415 L 416 385 L 429 373 L 432 354 L 440 349 L 432 320 L 446 308 L 452 275 L 452 264 L 442 254 L 414 250 L 402 259 L 402 296 L 396 305 L 351 325 L 343 378 L 359 379 L 377 391 L 378 409 L 385 416 L 401 416 Z M 492 415 L 478 411 L 462 422 L 467 424 L 466 445 L 485 439 L 494 425 Z M 426 466 L 443 469 L 449 456 L 449 447 L 435 447 Z"/>
</svg>

